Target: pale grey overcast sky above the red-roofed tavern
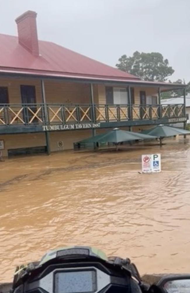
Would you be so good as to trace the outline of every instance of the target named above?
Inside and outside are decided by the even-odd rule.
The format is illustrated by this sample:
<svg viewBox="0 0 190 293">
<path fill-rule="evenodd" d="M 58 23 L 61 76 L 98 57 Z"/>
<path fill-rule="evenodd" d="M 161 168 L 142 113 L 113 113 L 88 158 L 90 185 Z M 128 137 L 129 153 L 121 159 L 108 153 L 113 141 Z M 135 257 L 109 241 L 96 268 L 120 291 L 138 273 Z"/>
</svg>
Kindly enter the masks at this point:
<svg viewBox="0 0 190 293">
<path fill-rule="evenodd" d="M 190 0 L 0 0 L 0 33 L 37 12 L 38 37 L 115 66 L 123 54 L 160 52 L 190 81 Z"/>
</svg>

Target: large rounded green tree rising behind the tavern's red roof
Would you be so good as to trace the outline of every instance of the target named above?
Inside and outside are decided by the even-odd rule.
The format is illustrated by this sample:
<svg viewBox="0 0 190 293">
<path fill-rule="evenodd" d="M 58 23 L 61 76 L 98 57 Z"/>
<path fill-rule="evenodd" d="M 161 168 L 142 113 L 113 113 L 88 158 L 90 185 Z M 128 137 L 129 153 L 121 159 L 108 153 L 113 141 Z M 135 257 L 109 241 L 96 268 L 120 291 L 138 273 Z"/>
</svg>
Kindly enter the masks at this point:
<svg viewBox="0 0 190 293">
<path fill-rule="evenodd" d="M 122 71 L 139 76 L 146 81 L 166 81 L 174 73 L 167 59 L 158 52 L 133 53 L 132 57 L 122 55 L 116 67 Z"/>
</svg>

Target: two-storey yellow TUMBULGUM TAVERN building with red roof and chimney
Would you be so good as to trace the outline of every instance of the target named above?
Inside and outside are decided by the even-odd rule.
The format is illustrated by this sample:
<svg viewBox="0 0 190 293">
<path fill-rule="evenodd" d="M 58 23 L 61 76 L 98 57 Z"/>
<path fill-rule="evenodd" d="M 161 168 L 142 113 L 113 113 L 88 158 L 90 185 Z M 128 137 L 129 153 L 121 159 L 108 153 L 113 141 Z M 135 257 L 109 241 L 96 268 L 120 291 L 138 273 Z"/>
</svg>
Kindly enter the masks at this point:
<svg viewBox="0 0 190 293">
<path fill-rule="evenodd" d="M 18 37 L 0 34 L 0 150 L 3 156 L 73 149 L 114 127 L 133 131 L 186 123 L 185 99 L 160 103 L 184 85 L 142 81 L 52 42 L 38 40 L 37 13 L 18 18 Z M 185 89 L 184 89 L 185 97 Z"/>
</svg>

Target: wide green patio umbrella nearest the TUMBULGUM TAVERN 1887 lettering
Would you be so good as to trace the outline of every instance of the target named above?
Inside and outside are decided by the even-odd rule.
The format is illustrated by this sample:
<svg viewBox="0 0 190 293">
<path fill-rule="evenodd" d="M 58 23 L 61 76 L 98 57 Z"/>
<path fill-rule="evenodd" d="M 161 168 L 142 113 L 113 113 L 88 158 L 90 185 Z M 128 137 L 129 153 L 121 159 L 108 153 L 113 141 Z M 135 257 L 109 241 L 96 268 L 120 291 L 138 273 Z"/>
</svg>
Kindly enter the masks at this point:
<svg viewBox="0 0 190 293">
<path fill-rule="evenodd" d="M 132 132 L 132 131 L 125 131 L 120 130 L 118 128 L 114 128 L 113 130 L 96 135 L 94 137 L 89 137 L 87 139 L 84 139 L 77 143 L 93 143 L 93 142 L 99 142 L 99 143 L 107 143 L 112 142 L 118 145 L 120 142 L 127 142 L 127 141 L 133 141 L 133 140 L 139 140 L 139 139 L 153 139 L 156 137 L 153 137 L 152 135 L 142 134 L 138 132 Z"/>
</svg>

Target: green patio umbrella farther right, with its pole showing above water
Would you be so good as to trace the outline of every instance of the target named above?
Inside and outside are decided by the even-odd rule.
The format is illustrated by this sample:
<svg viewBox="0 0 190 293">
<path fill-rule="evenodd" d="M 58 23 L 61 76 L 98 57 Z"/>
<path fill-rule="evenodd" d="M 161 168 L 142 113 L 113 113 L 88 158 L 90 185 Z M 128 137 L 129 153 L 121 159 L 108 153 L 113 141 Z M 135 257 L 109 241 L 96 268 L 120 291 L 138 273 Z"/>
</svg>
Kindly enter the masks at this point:
<svg viewBox="0 0 190 293">
<path fill-rule="evenodd" d="M 161 145 L 162 139 L 164 137 L 170 137 L 170 136 L 175 136 L 175 135 L 179 135 L 179 134 L 190 134 L 190 131 L 184 130 L 181 128 L 177 128 L 177 127 L 171 127 L 171 126 L 166 126 L 166 125 L 160 124 L 160 125 L 153 127 L 151 129 L 144 130 L 144 131 L 142 131 L 142 133 L 159 137 L 160 145 Z"/>
</svg>

